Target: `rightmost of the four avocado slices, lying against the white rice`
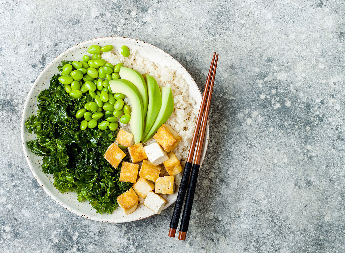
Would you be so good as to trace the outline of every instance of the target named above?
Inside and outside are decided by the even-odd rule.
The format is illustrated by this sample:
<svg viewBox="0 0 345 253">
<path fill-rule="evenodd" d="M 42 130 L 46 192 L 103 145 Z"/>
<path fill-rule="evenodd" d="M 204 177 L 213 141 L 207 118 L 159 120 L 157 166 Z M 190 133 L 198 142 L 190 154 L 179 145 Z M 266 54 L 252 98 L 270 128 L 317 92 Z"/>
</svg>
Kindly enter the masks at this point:
<svg viewBox="0 0 345 253">
<path fill-rule="evenodd" d="M 164 124 L 167 119 L 169 119 L 171 113 L 174 111 L 174 98 L 171 93 L 170 87 L 159 87 L 162 94 L 162 106 L 160 107 L 159 113 L 152 125 L 150 131 L 142 138 L 142 142 L 146 142 L 152 138 L 152 136 L 157 132 L 158 128 Z M 112 90 L 112 87 L 111 87 Z"/>
</svg>

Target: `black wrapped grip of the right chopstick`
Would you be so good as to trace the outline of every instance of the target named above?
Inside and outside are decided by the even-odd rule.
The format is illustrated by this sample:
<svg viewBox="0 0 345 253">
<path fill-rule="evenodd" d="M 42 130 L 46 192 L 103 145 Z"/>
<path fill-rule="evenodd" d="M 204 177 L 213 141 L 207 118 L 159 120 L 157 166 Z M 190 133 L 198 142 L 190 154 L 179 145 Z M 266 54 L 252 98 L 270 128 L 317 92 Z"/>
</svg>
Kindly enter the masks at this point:
<svg viewBox="0 0 345 253">
<path fill-rule="evenodd" d="M 193 206 L 196 182 L 198 180 L 200 165 L 193 164 L 192 174 L 190 176 L 189 187 L 187 191 L 187 197 L 185 202 L 185 208 L 183 209 L 180 231 L 187 232 L 189 226 L 190 213 Z"/>
</svg>

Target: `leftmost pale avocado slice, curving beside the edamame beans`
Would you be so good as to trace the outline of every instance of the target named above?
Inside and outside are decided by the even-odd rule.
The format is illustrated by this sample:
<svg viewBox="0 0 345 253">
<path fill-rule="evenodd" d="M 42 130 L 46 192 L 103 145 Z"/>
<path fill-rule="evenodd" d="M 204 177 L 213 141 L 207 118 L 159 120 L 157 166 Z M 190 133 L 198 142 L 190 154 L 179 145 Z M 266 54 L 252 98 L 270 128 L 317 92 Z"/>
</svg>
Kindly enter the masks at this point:
<svg viewBox="0 0 345 253">
<path fill-rule="evenodd" d="M 129 125 L 134 135 L 135 143 L 139 143 L 144 129 L 144 108 L 137 87 L 125 79 L 110 80 L 109 85 L 112 92 L 122 93 L 128 97 L 132 105 Z"/>
</svg>

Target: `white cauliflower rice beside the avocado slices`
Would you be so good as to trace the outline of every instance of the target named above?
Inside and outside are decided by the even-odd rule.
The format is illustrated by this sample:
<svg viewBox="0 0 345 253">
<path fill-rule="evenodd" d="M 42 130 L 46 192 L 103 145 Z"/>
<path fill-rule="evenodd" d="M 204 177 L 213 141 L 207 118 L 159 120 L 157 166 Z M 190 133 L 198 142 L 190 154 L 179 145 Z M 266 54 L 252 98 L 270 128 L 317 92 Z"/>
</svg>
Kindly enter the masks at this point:
<svg viewBox="0 0 345 253">
<path fill-rule="evenodd" d="M 130 54 L 129 57 L 124 57 L 121 54 L 115 54 L 113 49 L 110 52 L 103 53 L 102 59 L 105 59 L 113 65 L 121 62 L 125 67 L 135 69 L 142 75 L 149 74 L 153 76 L 157 80 L 159 86 L 171 88 L 172 95 L 174 96 L 174 111 L 166 123 L 181 137 L 181 141 L 177 144 L 173 152 L 179 160 L 186 161 L 188 148 L 191 143 L 191 138 L 193 137 L 198 109 L 192 106 L 195 104 L 195 101 L 188 94 L 188 84 L 185 80 L 181 76 L 176 75 L 175 70 L 157 65 L 135 53 Z M 120 126 L 130 129 L 127 124 L 124 125 L 120 123 Z M 155 140 L 150 139 L 146 144 L 152 142 L 155 142 Z"/>
</svg>

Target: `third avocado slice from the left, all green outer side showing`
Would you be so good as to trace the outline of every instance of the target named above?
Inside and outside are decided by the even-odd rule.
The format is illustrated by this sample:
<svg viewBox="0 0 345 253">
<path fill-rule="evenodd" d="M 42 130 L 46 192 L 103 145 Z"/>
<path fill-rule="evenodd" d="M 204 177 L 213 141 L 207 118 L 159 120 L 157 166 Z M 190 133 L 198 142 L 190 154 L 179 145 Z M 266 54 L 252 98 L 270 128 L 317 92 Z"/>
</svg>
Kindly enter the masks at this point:
<svg viewBox="0 0 345 253">
<path fill-rule="evenodd" d="M 142 137 L 145 137 L 146 134 L 150 131 L 153 123 L 157 118 L 159 109 L 162 106 L 162 96 L 160 94 L 160 89 L 157 84 L 156 79 L 149 74 L 145 75 L 147 83 L 147 93 L 149 97 L 149 104 L 147 107 L 145 130 L 142 134 Z"/>
</svg>

